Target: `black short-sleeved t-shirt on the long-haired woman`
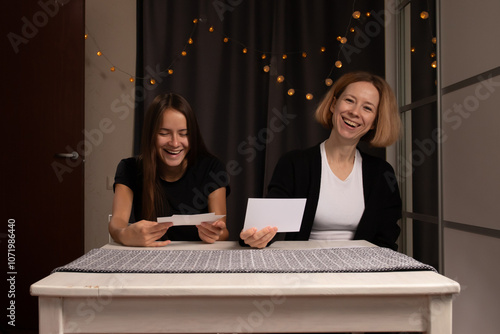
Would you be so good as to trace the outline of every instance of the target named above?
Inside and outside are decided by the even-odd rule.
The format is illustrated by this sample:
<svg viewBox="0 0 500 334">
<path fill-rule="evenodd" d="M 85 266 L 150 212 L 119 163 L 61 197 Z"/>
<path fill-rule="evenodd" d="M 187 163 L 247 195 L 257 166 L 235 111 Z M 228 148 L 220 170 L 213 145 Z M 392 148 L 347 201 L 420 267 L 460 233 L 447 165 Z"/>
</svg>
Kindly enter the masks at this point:
<svg viewBox="0 0 500 334">
<path fill-rule="evenodd" d="M 169 207 L 159 212 L 159 217 L 173 214 L 208 213 L 208 195 L 226 187 L 230 193 L 229 175 L 224 165 L 213 156 L 199 157 L 188 166 L 184 175 L 177 181 L 161 180 L 161 186 Z M 120 161 L 116 169 L 115 185 L 123 184 L 134 193 L 130 223 L 145 219 L 142 214 L 143 173 L 142 160 L 127 158 Z M 196 226 L 172 226 L 161 240 L 200 240 Z"/>
</svg>

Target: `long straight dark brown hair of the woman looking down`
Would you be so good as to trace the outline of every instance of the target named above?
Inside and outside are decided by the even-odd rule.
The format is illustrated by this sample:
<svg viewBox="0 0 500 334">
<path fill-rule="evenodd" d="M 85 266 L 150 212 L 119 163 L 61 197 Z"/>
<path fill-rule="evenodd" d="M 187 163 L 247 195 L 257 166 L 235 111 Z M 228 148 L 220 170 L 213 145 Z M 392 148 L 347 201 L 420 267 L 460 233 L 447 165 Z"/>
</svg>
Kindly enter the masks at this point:
<svg viewBox="0 0 500 334">
<path fill-rule="evenodd" d="M 141 156 L 143 172 L 142 216 L 144 219 L 156 220 L 158 215 L 169 211 L 166 194 L 164 194 L 158 173 L 158 155 L 156 139 L 163 120 L 163 113 L 173 109 L 186 117 L 189 152 L 186 155 L 187 166 L 192 165 L 198 156 L 210 154 L 205 146 L 198 127 L 196 115 L 189 103 L 175 93 L 158 95 L 149 106 L 144 118 L 142 131 Z"/>
</svg>

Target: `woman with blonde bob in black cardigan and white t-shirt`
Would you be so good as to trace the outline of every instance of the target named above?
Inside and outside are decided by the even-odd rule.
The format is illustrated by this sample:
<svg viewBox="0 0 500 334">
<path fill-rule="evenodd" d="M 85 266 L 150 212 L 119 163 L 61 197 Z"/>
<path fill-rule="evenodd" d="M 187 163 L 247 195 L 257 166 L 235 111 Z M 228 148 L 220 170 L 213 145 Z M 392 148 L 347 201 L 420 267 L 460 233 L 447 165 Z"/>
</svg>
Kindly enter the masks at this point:
<svg viewBox="0 0 500 334">
<path fill-rule="evenodd" d="M 391 88 L 367 72 L 345 74 L 315 116 L 331 130 L 329 138 L 281 157 L 268 186 L 269 198 L 307 198 L 300 231 L 284 239 L 364 239 L 396 249 L 402 205 L 394 170 L 357 149 L 360 140 L 385 147 L 398 139 L 401 122 Z M 240 233 L 240 243 L 262 248 L 277 232 L 250 228 Z"/>
</svg>

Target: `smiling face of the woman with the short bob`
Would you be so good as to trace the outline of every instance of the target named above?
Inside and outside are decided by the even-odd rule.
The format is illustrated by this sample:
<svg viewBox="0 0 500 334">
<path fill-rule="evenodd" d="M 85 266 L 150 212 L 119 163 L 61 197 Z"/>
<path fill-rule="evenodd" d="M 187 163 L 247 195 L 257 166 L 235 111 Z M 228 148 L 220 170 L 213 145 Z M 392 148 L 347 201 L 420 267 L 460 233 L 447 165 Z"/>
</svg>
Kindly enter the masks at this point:
<svg viewBox="0 0 500 334">
<path fill-rule="evenodd" d="M 361 137 L 374 128 L 379 100 L 378 90 L 370 82 L 359 81 L 348 85 L 330 108 L 332 134 L 357 145 Z"/>
</svg>

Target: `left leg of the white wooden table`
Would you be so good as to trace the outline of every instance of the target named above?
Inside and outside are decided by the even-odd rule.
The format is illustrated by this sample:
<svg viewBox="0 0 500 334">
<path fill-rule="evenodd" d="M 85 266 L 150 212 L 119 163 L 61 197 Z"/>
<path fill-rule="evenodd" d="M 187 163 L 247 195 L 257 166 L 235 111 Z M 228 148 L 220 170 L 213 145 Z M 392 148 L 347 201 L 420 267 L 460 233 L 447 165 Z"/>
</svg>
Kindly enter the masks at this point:
<svg viewBox="0 0 500 334">
<path fill-rule="evenodd" d="M 40 334 L 63 334 L 62 298 L 38 298 Z"/>
</svg>

